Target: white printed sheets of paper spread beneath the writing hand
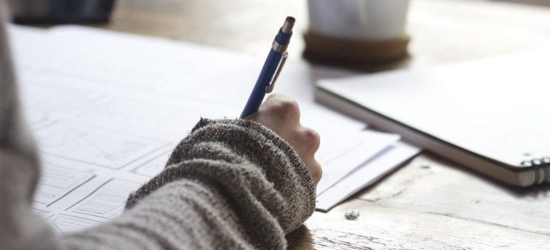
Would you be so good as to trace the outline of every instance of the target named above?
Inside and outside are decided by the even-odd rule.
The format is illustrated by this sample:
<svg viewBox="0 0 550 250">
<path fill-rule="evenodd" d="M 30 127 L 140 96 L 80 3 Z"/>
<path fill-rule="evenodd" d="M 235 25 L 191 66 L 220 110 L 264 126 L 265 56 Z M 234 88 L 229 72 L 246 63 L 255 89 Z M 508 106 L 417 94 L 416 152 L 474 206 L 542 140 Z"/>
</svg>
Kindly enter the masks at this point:
<svg viewBox="0 0 550 250">
<path fill-rule="evenodd" d="M 238 116 L 264 60 L 76 26 L 10 30 L 25 115 L 44 162 L 35 209 L 61 233 L 120 214 L 201 116 Z M 276 86 L 299 101 L 302 124 L 321 134 L 321 210 L 418 152 L 314 103 L 316 79 L 344 75 L 291 62 Z"/>
</svg>

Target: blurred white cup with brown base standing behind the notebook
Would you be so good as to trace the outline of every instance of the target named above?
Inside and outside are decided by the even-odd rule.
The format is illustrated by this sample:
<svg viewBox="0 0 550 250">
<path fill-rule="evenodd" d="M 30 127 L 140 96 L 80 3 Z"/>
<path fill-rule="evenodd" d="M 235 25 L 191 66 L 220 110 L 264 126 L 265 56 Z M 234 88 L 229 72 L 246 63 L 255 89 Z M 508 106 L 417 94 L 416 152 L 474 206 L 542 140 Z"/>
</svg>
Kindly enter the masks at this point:
<svg viewBox="0 0 550 250">
<path fill-rule="evenodd" d="M 309 0 L 306 58 L 392 61 L 406 56 L 409 0 Z"/>
</svg>

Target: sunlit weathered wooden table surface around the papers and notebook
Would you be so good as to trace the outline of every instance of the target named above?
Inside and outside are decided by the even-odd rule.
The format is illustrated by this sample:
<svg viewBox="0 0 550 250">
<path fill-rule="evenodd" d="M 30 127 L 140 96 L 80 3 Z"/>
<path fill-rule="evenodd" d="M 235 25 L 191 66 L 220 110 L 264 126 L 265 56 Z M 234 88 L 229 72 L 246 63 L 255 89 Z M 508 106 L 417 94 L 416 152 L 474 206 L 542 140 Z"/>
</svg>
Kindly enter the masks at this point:
<svg viewBox="0 0 550 250">
<path fill-rule="evenodd" d="M 307 26 L 306 1 L 121 0 L 105 29 L 264 56 L 284 16 Z M 410 59 L 446 64 L 550 44 L 550 9 L 492 1 L 416 0 Z M 302 60 L 296 36 L 292 59 Z M 549 63 L 550 66 L 550 63 Z M 344 213 L 359 211 L 354 221 Z M 290 249 L 550 249 L 550 186 L 503 186 L 429 153 L 288 236 Z"/>
</svg>

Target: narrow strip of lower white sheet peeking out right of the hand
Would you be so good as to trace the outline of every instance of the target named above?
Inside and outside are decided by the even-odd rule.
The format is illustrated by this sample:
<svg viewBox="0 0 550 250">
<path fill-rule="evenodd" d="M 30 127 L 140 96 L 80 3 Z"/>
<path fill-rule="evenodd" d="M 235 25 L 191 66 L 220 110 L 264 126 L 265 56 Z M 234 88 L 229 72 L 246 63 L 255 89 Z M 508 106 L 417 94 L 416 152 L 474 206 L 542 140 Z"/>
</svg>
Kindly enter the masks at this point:
<svg viewBox="0 0 550 250">
<path fill-rule="evenodd" d="M 326 189 L 321 193 L 318 192 L 316 209 L 328 211 L 357 191 L 374 184 L 381 177 L 403 164 L 404 161 L 418 154 L 419 151 L 420 149 L 416 146 L 397 141 L 331 186 L 330 189 Z"/>
</svg>

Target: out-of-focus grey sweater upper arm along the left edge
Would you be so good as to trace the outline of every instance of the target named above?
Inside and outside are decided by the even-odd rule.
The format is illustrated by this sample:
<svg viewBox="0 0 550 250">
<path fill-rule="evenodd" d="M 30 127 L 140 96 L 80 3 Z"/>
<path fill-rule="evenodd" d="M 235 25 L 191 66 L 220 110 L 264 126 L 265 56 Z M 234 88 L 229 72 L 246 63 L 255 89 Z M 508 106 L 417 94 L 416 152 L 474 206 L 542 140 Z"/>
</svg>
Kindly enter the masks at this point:
<svg viewBox="0 0 550 250">
<path fill-rule="evenodd" d="M 39 157 L 21 116 L 0 0 L 0 249 L 54 249 L 56 236 L 32 211 Z"/>
</svg>

